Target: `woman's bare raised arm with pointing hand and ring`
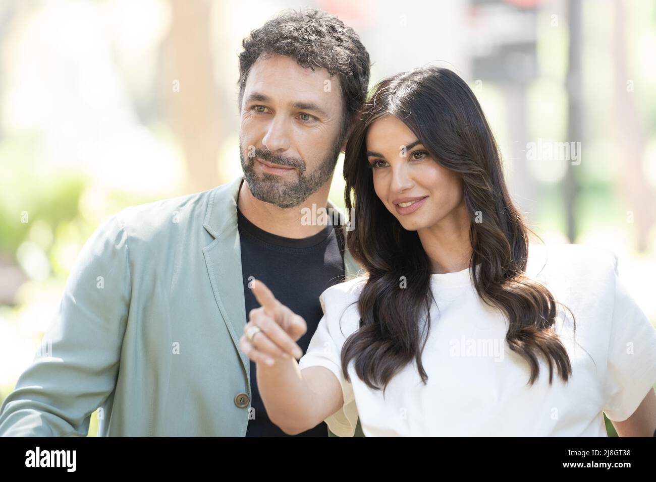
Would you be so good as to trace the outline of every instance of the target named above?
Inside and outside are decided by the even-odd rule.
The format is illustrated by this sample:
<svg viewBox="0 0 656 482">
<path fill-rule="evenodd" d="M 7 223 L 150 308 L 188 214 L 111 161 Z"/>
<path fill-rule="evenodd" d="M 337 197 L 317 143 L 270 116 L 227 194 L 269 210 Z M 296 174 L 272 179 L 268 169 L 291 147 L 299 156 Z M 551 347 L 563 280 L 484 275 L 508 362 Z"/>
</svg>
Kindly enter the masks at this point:
<svg viewBox="0 0 656 482">
<path fill-rule="evenodd" d="M 295 340 L 307 331 L 305 320 L 261 281 L 253 281 L 252 287 L 262 307 L 249 313 L 239 345 L 257 364 L 257 386 L 270 420 L 289 435 L 305 432 L 342 407 L 341 386 L 324 367 L 300 370 L 294 357 L 302 352 Z M 260 331 L 249 339 L 246 334 L 253 327 Z"/>
</svg>

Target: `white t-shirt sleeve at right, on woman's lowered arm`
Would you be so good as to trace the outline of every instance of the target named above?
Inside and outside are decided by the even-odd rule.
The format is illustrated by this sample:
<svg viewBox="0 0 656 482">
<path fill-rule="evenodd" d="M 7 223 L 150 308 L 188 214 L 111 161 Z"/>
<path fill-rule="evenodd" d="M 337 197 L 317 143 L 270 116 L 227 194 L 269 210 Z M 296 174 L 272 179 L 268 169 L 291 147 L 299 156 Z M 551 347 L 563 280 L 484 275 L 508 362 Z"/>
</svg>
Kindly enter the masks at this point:
<svg viewBox="0 0 656 482">
<path fill-rule="evenodd" d="M 617 275 L 605 380 L 604 412 L 623 422 L 656 382 L 656 329 Z"/>
</svg>

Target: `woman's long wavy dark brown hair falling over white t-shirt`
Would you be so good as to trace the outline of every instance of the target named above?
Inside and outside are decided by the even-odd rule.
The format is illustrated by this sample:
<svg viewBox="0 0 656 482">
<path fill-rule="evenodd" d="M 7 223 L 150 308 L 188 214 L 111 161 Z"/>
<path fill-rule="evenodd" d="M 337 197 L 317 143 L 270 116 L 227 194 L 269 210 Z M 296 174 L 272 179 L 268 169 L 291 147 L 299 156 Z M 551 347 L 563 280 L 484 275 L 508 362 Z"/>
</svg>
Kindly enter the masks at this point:
<svg viewBox="0 0 656 482">
<path fill-rule="evenodd" d="M 529 384 L 539 376 L 538 355 L 548 362 L 549 384 L 554 365 L 567 382 L 571 363 L 552 329 L 560 303 L 525 273 L 529 231 L 533 231 L 525 226 L 508 195 L 493 133 L 468 85 L 453 71 L 434 66 L 380 82 L 356 117 L 346 145 L 344 201 L 346 211 L 354 212 L 348 249 L 368 272 L 358 299 L 359 330 L 342 348 L 346 379 L 351 359 L 355 359 L 359 378 L 370 388 L 386 388 L 413 359 L 424 384 L 428 379 L 421 354 L 435 301 L 430 260 L 417 231 L 405 230 L 377 197 L 372 171 L 367 168 L 367 129 L 387 115 L 403 121 L 432 159 L 462 179 L 464 203 L 472 220 L 470 268 L 476 273 L 475 267 L 481 265 L 474 276 L 476 292 L 485 304 L 507 316 L 506 342 L 527 361 Z M 403 289 L 401 277 L 407 281 Z M 426 320 L 424 329 L 420 329 L 421 319 Z"/>
</svg>

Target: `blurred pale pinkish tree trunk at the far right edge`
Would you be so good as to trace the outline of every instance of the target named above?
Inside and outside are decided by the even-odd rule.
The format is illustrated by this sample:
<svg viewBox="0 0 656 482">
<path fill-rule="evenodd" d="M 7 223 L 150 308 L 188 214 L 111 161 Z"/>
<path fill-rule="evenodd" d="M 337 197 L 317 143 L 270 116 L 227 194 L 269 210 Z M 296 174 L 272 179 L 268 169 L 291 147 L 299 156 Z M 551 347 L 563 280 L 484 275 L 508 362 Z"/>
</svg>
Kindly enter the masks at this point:
<svg viewBox="0 0 656 482">
<path fill-rule="evenodd" d="M 613 60 L 615 61 L 615 132 L 621 159 L 621 191 L 628 204 L 625 222 L 634 223 L 639 252 L 649 249 L 649 230 L 656 220 L 656 191 L 649 186 L 643 172 L 642 158 L 645 150 L 645 134 L 636 110 L 632 75 L 626 67 L 625 4 L 620 0 L 613 2 L 615 28 L 613 38 Z M 638 86 L 651 92 L 651 86 Z"/>
</svg>

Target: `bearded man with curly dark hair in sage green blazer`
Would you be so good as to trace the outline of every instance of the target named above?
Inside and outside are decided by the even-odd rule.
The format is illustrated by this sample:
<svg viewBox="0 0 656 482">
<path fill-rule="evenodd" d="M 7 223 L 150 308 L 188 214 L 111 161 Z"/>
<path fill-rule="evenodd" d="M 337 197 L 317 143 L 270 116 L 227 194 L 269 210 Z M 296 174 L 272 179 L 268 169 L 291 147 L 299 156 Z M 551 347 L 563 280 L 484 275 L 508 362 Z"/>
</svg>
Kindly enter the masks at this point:
<svg viewBox="0 0 656 482">
<path fill-rule="evenodd" d="M 96 409 L 99 435 L 285 435 L 239 349 L 258 307 L 249 282 L 304 317 L 305 350 L 319 294 L 358 271 L 344 220 L 307 213 L 335 209 L 328 192 L 369 66 L 358 35 L 318 10 L 251 32 L 239 56 L 243 178 L 123 209 L 93 233 L 43 353 L 1 407 L 0 435 L 83 436 Z M 322 422 L 299 435 L 328 434 Z"/>
</svg>

